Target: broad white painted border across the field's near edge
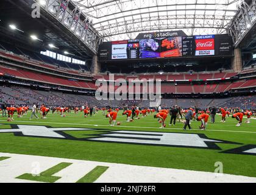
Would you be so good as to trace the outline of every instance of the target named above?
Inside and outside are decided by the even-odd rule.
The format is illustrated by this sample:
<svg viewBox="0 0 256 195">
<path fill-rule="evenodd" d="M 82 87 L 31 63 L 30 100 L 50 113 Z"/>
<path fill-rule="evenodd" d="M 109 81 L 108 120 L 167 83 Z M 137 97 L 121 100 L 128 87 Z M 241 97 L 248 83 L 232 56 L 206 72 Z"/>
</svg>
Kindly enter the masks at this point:
<svg viewBox="0 0 256 195">
<path fill-rule="evenodd" d="M 1 153 L 0 157 L 10 157 L 0 161 L 0 182 L 33 182 L 15 179 L 22 174 L 32 174 L 35 168 L 38 172 L 46 171 L 59 163 L 72 163 L 65 169 L 54 174 L 61 177 L 56 183 L 74 183 L 84 177 L 96 166 L 107 166 L 96 183 L 255 183 L 255 177 L 235 176 L 231 174 L 215 174 L 214 172 L 187 171 L 182 169 L 156 168 L 149 166 L 134 166 L 118 163 L 104 163 L 98 161 L 72 160 L 66 158 L 40 157 L 35 155 L 20 155 Z M 215 166 L 213 165 L 213 171 Z"/>
</svg>

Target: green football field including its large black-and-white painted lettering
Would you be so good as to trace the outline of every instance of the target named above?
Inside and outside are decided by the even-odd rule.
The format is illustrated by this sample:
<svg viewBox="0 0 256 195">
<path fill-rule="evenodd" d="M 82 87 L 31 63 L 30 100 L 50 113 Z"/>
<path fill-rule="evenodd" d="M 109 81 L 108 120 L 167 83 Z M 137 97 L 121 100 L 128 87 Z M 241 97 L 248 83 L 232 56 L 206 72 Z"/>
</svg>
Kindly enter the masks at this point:
<svg viewBox="0 0 256 195">
<path fill-rule="evenodd" d="M 102 112 L 84 118 L 84 113 L 49 113 L 47 119 L 29 120 L 30 112 L 15 121 L 0 118 L 0 152 L 73 160 L 120 163 L 125 165 L 215 172 L 256 177 L 256 121 L 236 127 L 235 119 L 225 123 L 193 121 L 193 130 L 182 130 L 183 123 L 159 129 L 153 115 L 126 122 L 118 113 L 121 126 L 111 127 Z M 1 160 L 1 155 L 0 155 Z M 1 161 L 0 161 L 1 162 Z"/>
</svg>

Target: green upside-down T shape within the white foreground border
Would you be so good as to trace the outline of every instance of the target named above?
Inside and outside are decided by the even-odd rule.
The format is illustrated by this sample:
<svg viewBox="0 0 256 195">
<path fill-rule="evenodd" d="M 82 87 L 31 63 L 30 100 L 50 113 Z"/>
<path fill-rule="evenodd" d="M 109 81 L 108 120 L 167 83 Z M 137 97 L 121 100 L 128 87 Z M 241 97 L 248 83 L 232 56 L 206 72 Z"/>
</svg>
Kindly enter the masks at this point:
<svg viewBox="0 0 256 195">
<path fill-rule="evenodd" d="M 49 168 L 46 171 L 41 172 L 39 176 L 33 176 L 32 174 L 26 173 L 16 177 L 16 179 L 25 179 L 25 180 L 32 180 L 37 182 L 54 183 L 57 180 L 59 180 L 61 177 L 52 176 L 52 175 L 61 171 L 62 169 L 65 169 L 69 165 L 72 165 L 72 163 L 59 163 L 58 165 L 55 165 L 52 168 Z"/>
</svg>

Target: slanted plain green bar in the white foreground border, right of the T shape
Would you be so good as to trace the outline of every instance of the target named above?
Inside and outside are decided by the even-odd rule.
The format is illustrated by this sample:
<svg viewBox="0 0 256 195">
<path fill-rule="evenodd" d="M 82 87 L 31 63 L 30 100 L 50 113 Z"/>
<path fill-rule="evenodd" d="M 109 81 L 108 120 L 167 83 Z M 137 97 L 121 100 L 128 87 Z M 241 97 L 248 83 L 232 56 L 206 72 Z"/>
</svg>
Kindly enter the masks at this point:
<svg viewBox="0 0 256 195">
<path fill-rule="evenodd" d="M 105 171 L 107 171 L 107 166 L 96 166 L 93 170 L 88 172 L 84 177 L 79 179 L 76 183 L 93 183 L 95 182 Z"/>
</svg>

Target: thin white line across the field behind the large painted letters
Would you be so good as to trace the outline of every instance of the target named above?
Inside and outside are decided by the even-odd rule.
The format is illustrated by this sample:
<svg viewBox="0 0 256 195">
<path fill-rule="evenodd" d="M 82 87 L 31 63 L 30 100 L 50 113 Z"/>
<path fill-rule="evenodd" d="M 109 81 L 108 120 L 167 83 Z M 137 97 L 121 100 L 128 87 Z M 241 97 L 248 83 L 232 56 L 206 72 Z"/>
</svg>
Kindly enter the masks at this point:
<svg viewBox="0 0 256 195">
<path fill-rule="evenodd" d="M 0 120 L 2 122 L 6 122 L 4 120 Z M 67 122 L 40 122 L 40 121 L 13 121 L 13 122 L 10 122 L 10 124 L 15 124 L 15 122 L 29 122 L 29 123 L 38 123 L 38 124 L 65 124 L 65 125 L 79 125 L 79 126 L 94 126 L 94 127 L 110 127 L 110 126 L 107 126 L 107 125 L 94 125 L 94 124 L 80 124 L 80 123 L 67 123 Z M 118 128 L 135 128 L 135 129 L 157 129 L 159 131 L 161 131 L 161 129 L 158 129 L 158 127 L 138 127 L 138 126 L 115 126 L 115 127 L 118 127 Z M 237 127 L 234 127 L 234 128 L 237 128 Z M 238 127 L 239 128 L 239 127 Z M 165 128 L 165 129 L 169 129 L 169 130 L 182 130 L 181 128 Z M 193 129 L 195 130 L 195 129 Z M 193 130 L 187 130 L 186 132 L 191 132 L 193 133 Z M 0 129 L 1 131 L 1 129 Z M 247 132 L 247 131 L 238 131 L 238 130 L 215 130 L 215 129 L 207 129 L 206 132 L 234 132 L 234 133 L 256 133 L 256 132 Z M 184 131 L 185 132 L 185 131 Z M 205 132 L 205 131 L 201 131 L 201 132 Z"/>
</svg>

